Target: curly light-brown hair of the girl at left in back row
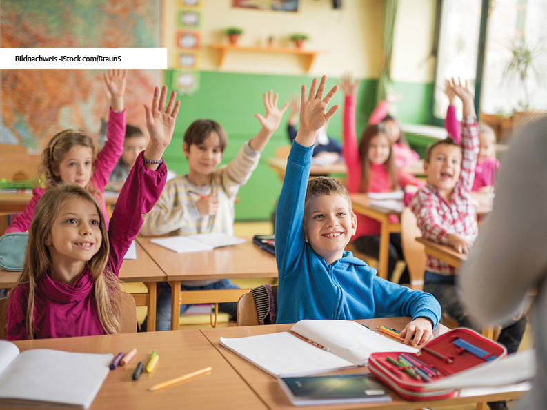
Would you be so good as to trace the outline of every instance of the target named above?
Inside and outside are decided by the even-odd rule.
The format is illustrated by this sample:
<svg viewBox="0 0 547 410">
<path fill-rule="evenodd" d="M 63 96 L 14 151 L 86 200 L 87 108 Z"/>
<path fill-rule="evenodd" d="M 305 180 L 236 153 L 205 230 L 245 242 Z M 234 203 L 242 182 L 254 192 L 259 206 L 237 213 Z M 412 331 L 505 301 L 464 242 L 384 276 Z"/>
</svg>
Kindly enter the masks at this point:
<svg viewBox="0 0 547 410">
<path fill-rule="evenodd" d="M 95 159 L 97 159 L 97 153 L 99 153 L 99 146 L 97 143 L 82 131 L 61 131 L 60 133 L 55 134 L 48 142 L 48 146 L 44 148 L 42 162 L 38 168 L 39 175 L 43 175 L 46 188 L 52 188 L 63 182 L 61 177 L 55 175 L 54 171 L 59 170 L 59 164 L 61 164 L 68 151 L 74 148 L 74 146 L 90 148 L 92 152 L 92 163 L 95 167 Z M 92 186 L 91 179 L 86 185 L 86 189 L 90 193 L 94 195 L 99 194 L 99 197 L 102 197 L 100 191 Z"/>
</svg>

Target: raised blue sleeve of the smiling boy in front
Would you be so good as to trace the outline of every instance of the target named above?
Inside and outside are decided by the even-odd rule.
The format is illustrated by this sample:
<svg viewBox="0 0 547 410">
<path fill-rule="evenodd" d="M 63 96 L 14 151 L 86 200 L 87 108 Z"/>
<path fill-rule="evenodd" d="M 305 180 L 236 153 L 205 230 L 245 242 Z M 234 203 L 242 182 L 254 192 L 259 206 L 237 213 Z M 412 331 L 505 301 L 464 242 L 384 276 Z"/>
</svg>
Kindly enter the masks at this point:
<svg viewBox="0 0 547 410">
<path fill-rule="evenodd" d="M 304 199 L 312 163 L 312 147 L 292 143 L 275 219 L 275 260 L 279 277 L 292 272 L 305 255 Z"/>
</svg>

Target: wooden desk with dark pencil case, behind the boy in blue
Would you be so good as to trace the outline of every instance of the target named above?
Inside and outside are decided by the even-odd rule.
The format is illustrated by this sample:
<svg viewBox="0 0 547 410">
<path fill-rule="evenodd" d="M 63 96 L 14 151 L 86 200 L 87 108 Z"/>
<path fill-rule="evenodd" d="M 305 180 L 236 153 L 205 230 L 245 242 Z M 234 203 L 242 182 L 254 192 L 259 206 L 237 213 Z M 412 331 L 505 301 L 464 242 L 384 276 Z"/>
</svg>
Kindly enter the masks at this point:
<svg viewBox="0 0 547 410">
<path fill-rule="evenodd" d="M 171 330 L 179 329 L 181 304 L 237 302 L 249 289 L 181 291 L 183 280 L 247 279 L 277 277 L 275 255 L 247 242 L 213 251 L 176 253 L 150 242 L 153 237 L 138 236 L 137 241 L 167 275 L 171 292 Z"/>
</svg>

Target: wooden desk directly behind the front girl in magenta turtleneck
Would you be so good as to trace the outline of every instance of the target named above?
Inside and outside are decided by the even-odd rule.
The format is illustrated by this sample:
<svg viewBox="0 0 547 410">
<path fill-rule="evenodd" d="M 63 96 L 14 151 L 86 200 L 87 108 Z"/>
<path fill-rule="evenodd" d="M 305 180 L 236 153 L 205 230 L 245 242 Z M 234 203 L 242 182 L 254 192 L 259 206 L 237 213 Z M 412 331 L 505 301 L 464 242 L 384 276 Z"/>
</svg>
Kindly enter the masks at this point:
<svg viewBox="0 0 547 410">
<path fill-rule="evenodd" d="M 15 286 L 21 272 L 10 272 L 0 269 L 0 289 L 11 289 Z M 123 282 L 144 282 L 148 293 L 132 294 L 137 306 L 148 307 L 147 331 L 156 330 L 156 288 L 157 282 L 165 282 L 166 274 L 159 269 L 159 266 L 152 260 L 148 253 L 137 242 L 137 259 L 126 259 L 121 264 L 119 279 Z"/>
</svg>

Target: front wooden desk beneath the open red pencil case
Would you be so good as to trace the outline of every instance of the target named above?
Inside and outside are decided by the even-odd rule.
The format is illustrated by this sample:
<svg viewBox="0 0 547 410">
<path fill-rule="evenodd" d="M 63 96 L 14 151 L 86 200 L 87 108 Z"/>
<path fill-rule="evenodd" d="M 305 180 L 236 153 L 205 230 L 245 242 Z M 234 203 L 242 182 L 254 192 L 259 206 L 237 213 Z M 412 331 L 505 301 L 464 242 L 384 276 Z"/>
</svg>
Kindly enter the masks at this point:
<svg viewBox="0 0 547 410">
<path fill-rule="evenodd" d="M 370 326 L 371 329 L 376 329 L 377 326 L 384 325 L 393 329 L 402 330 L 408 323 L 410 318 L 380 318 L 380 319 L 366 319 L 357 320 L 357 322 Z M 243 326 L 243 327 L 226 327 L 219 329 L 201 329 L 201 333 L 208 338 L 213 346 L 219 349 L 220 353 L 228 360 L 233 369 L 239 373 L 241 378 L 246 381 L 250 388 L 255 391 L 257 396 L 266 403 L 266 406 L 270 410 L 288 410 L 295 409 L 288 398 L 286 398 L 283 391 L 277 384 L 277 380 L 262 371 L 253 364 L 250 364 L 247 360 L 241 358 L 239 355 L 232 353 L 228 349 L 225 349 L 219 345 L 219 338 L 243 338 L 245 336 L 262 335 L 267 333 L 276 333 L 280 331 L 288 331 L 291 324 L 275 324 L 266 326 Z M 435 335 L 441 335 L 449 331 L 446 326 L 439 324 L 435 329 Z M 368 373 L 367 367 L 358 367 L 357 369 L 350 369 L 347 371 L 339 371 L 337 373 Z M 478 393 L 477 390 L 462 389 L 459 397 L 448 398 L 443 400 L 429 400 L 424 402 L 410 402 L 404 400 L 392 393 L 392 402 L 387 403 L 363 403 L 363 404 L 336 404 L 332 406 L 306 406 L 309 410 L 331 410 L 331 409 L 382 409 L 382 410 L 401 410 L 401 409 L 418 409 L 421 407 L 437 407 L 437 406 L 450 406 L 458 404 L 468 404 L 475 402 L 487 402 L 495 400 L 504 400 L 518 398 L 524 387 L 511 387 L 510 391 L 504 393 L 494 393 L 495 389 L 481 389 L 482 393 Z M 484 393 L 486 391 L 486 393 Z M 478 394 L 477 394 L 478 393 Z"/>
</svg>

